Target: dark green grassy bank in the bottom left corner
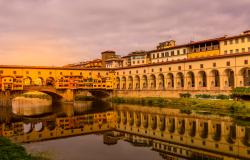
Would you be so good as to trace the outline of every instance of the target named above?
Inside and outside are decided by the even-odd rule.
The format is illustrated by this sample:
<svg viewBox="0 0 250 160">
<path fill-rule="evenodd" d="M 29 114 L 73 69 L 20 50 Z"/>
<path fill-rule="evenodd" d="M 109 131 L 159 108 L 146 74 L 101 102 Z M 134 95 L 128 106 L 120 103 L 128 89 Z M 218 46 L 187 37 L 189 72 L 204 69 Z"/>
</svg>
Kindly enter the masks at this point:
<svg viewBox="0 0 250 160">
<path fill-rule="evenodd" d="M 10 140 L 0 136 L 0 159 L 1 160 L 50 160 L 42 155 L 28 154 L 21 145 L 12 143 Z"/>
</svg>

